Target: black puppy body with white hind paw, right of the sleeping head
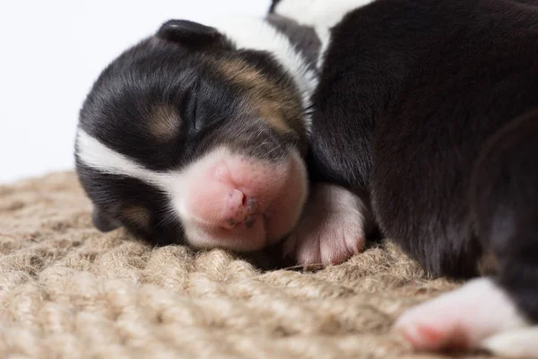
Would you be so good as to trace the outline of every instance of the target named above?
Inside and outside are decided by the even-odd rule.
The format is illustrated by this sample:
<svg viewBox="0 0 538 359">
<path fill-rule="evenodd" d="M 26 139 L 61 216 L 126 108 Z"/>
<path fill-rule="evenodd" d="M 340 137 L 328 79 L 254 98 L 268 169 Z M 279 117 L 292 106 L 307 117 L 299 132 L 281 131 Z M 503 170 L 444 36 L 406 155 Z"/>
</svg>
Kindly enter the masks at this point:
<svg viewBox="0 0 538 359">
<path fill-rule="evenodd" d="M 312 188 L 365 192 L 384 235 L 435 276 L 489 275 L 404 313 L 396 328 L 418 349 L 538 357 L 538 2 L 272 9 L 323 43 Z M 305 213 L 298 228 L 308 222 Z"/>
</svg>

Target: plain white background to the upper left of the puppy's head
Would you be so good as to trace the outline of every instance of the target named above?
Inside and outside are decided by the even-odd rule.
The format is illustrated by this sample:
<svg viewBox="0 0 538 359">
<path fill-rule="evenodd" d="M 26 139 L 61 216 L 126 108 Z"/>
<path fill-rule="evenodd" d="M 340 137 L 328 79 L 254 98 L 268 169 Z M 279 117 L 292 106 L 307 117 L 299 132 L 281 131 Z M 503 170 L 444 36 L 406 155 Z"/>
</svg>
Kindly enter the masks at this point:
<svg viewBox="0 0 538 359">
<path fill-rule="evenodd" d="M 170 18 L 261 15 L 269 0 L 0 0 L 0 183 L 73 168 L 100 71 Z"/>
</svg>

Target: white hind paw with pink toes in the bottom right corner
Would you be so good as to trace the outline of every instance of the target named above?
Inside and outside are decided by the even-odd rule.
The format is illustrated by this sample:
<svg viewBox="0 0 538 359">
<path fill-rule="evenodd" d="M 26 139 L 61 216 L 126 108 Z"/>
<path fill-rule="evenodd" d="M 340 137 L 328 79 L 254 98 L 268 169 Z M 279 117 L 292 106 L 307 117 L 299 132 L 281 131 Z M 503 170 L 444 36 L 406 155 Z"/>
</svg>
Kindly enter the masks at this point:
<svg viewBox="0 0 538 359">
<path fill-rule="evenodd" d="M 420 351 L 486 349 L 496 355 L 538 358 L 538 328 L 530 326 L 489 278 L 475 279 L 404 312 L 395 328 Z"/>
</svg>

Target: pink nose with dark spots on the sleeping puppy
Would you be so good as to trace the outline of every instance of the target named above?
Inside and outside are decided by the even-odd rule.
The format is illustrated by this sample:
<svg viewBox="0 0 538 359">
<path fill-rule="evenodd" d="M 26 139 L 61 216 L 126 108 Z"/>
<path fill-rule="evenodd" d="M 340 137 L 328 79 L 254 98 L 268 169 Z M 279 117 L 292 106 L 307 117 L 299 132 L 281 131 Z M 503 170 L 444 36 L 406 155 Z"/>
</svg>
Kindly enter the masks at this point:
<svg viewBox="0 0 538 359">
<path fill-rule="evenodd" d="M 221 226 L 224 228 L 234 228 L 239 223 L 251 227 L 256 220 L 256 199 L 247 197 L 239 189 L 232 189 L 226 198 L 226 206 L 222 213 Z"/>
</svg>

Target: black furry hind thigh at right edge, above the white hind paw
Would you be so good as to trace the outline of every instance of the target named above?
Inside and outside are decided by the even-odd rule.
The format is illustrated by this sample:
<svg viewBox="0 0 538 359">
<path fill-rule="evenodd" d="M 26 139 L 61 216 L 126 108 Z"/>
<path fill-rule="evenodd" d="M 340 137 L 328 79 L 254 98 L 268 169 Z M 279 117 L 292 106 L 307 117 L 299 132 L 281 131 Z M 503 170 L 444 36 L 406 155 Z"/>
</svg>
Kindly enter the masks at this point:
<svg viewBox="0 0 538 359">
<path fill-rule="evenodd" d="M 538 320 L 538 108 L 488 140 L 471 182 L 473 222 L 499 258 L 499 283 Z"/>
</svg>

